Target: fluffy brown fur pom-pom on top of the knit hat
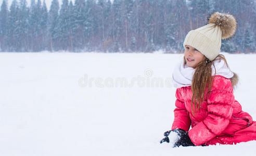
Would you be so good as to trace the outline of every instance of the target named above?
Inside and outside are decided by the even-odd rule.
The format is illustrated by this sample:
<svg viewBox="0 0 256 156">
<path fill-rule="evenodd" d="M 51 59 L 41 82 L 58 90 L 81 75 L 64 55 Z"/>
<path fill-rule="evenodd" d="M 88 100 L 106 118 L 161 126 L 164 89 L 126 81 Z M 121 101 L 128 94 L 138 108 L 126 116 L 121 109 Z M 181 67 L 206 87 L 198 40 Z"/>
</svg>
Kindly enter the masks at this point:
<svg viewBox="0 0 256 156">
<path fill-rule="evenodd" d="M 234 16 L 215 12 L 209 19 L 209 24 L 219 25 L 222 30 L 222 39 L 229 38 L 235 34 L 237 23 Z"/>
</svg>

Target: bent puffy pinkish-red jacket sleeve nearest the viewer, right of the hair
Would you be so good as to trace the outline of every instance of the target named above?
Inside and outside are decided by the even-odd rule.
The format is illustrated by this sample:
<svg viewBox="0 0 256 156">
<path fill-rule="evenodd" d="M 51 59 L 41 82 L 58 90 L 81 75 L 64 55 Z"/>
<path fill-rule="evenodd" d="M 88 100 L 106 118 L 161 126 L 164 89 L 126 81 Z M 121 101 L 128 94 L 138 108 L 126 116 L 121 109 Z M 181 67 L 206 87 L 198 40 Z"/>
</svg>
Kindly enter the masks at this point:
<svg viewBox="0 0 256 156">
<path fill-rule="evenodd" d="M 232 118 L 234 101 L 231 81 L 218 76 L 212 84 L 211 94 L 207 99 L 208 116 L 191 128 L 188 135 L 196 145 L 202 145 L 220 135 Z"/>
</svg>

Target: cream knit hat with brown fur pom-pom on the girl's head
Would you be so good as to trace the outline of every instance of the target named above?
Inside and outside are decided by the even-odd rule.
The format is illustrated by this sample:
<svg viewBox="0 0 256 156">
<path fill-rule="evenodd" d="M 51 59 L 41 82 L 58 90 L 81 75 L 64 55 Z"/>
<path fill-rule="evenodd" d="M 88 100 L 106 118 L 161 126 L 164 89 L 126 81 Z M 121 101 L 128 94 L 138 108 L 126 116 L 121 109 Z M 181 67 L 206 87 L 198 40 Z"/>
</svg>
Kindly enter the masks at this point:
<svg viewBox="0 0 256 156">
<path fill-rule="evenodd" d="M 198 49 L 212 61 L 220 54 L 221 39 L 234 35 L 236 25 L 234 16 L 215 12 L 207 25 L 188 32 L 183 46 L 189 45 Z"/>
</svg>

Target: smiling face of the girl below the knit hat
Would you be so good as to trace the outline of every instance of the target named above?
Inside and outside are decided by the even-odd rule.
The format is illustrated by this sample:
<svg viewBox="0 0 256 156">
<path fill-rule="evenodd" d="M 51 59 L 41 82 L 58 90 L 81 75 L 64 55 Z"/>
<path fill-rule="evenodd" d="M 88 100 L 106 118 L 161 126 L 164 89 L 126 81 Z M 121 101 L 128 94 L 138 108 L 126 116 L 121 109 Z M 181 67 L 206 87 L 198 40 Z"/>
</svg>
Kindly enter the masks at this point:
<svg viewBox="0 0 256 156">
<path fill-rule="evenodd" d="M 200 53 L 196 48 L 189 45 L 185 46 L 184 57 L 186 59 L 186 64 L 188 67 L 196 68 L 197 64 L 203 60 L 203 54 Z"/>
</svg>

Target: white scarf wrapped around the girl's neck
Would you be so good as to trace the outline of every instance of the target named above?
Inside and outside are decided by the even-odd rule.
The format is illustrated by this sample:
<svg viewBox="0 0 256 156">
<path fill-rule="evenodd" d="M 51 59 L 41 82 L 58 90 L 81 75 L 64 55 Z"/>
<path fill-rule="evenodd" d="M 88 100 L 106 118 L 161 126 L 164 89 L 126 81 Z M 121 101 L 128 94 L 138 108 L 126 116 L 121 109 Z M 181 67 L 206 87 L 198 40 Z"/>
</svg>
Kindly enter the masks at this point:
<svg viewBox="0 0 256 156">
<path fill-rule="evenodd" d="M 184 60 L 182 58 L 182 60 L 174 68 L 174 71 L 172 74 L 172 82 L 175 88 L 191 86 L 192 84 L 192 79 L 195 73 L 195 69 L 192 67 L 188 67 L 187 64 L 185 64 L 185 67 L 184 67 L 183 61 Z M 234 73 L 226 66 L 226 63 L 223 59 L 221 59 L 221 61 L 219 60 L 214 61 L 214 66 L 216 69 L 216 75 L 222 75 L 227 79 L 230 79 L 231 77 L 234 76 Z M 212 65 L 212 75 L 214 75 L 215 69 Z"/>
</svg>

